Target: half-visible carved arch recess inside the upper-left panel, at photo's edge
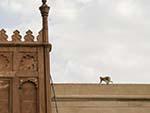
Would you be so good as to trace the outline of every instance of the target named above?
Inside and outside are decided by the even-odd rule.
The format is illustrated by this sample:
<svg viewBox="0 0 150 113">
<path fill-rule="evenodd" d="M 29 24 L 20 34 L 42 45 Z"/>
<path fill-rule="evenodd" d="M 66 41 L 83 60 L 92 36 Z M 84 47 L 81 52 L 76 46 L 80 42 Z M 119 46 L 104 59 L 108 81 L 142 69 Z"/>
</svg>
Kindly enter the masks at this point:
<svg viewBox="0 0 150 113">
<path fill-rule="evenodd" d="M 0 71 L 9 70 L 10 61 L 7 56 L 0 54 Z"/>
</svg>

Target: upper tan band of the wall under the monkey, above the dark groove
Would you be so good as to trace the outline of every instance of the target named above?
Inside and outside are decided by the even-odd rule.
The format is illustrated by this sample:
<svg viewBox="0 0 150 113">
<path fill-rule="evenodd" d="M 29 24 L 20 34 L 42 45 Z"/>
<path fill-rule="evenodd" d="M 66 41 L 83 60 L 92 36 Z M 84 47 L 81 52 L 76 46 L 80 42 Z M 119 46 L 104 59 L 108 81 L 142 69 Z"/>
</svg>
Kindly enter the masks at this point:
<svg viewBox="0 0 150 113">
<path fill-rule="evenodd" d="M 150 96 L 150 84 L 55 84 L 56 96 Z"/>
</svg>

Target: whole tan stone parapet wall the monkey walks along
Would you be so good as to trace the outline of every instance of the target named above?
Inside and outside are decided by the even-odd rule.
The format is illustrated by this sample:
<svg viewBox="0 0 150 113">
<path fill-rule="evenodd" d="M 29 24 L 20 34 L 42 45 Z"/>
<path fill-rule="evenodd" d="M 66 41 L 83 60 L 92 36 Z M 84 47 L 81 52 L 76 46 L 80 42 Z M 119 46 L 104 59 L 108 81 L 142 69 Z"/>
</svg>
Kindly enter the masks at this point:
<svg viewBox="0 0 150 113">
<path fill-rule="evenodd" d="M 148 84 L 55 84 L 60 113 L 149 113 Z M 54 98 L 52 98 L 54 103 Z M 55 113 L 53 104 L 53 113 Z"/>
</svg>

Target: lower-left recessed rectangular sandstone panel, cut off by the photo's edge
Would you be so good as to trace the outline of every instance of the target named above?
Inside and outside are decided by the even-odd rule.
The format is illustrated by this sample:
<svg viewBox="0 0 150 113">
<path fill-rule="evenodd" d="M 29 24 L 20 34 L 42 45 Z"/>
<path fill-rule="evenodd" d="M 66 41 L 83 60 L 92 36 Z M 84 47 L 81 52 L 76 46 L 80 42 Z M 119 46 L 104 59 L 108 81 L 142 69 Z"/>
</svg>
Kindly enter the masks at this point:
<svg viewBox="0 0 150 113">
<path fill-rule="evenodd" d="M 0 79 L 0 113 L 11 113 L 10 82 Z"/>
</svg>

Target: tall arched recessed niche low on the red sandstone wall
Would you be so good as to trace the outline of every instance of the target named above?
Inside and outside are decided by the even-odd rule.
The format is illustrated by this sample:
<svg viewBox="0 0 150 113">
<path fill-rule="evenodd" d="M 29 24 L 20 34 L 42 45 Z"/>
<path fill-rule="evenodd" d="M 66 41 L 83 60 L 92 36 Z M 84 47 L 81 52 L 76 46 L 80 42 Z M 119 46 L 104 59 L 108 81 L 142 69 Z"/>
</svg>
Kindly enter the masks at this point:
<svg viewBox="0 0 150 113">
<path fill-rule="evenodd" d="M 21 81 L 22 82 L 22 81 Z M 23 80 L 20 89 L 20 113 L 38 113 L 37 87 L 30 80 Z"/>
</svg>

